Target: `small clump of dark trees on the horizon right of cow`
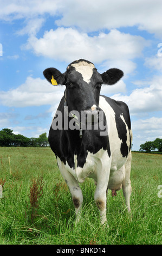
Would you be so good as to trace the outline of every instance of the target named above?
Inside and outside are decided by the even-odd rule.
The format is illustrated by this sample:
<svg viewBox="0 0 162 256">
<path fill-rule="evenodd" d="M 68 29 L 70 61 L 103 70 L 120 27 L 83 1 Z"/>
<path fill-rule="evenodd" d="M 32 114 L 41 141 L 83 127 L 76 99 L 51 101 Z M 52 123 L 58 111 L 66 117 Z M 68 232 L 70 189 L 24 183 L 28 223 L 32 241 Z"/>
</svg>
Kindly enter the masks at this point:
<svg viewBox="0 0 162 256">
<path fill-rule="evenodd" d="M 151 152 L 155 149 L 162 152 L 162 139 L 156 138 L 154 141 L 146 141 L 144 144 L 140 145 L 139 151 Z"/>
</svg>

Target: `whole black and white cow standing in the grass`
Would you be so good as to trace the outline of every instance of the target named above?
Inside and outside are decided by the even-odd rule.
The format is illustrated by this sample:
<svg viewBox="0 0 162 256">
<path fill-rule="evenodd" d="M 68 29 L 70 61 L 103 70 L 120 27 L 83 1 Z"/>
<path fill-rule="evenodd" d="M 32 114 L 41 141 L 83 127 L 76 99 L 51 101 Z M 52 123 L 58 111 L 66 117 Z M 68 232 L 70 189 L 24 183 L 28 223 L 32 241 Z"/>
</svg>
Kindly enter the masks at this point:
<svg viewBox="0 0 162 256">
<path fill-rule="evenodd" d="M 56 155 L 60 172 L 72 193 L 76 222 L 79 221 L 83 202 L 79 183 L 87 177 L 93 178 L 96 184 L 94 199 L 100 210 L 102 224 L 107 222 L 108 188 L 112 190 L 112 196 L 116 196 L 116 191 L 122 188 L 127 210 L 131 211 L 132 131 L 129 110 L 124 102 L 100 95 L 101 85 L 118 82 L 124 75 L 123 72 L 114 68 L 99 74 L 93 63 L 80 59 L 69 64 L 63 74 L 55 68 L 48 68 L 43 74 L 49 82 L 53 78 L 56 84 L 66 85 L 57 109 L 62 114 L 62 127 L 55 129 L 51 125 L 48 140 Z M 76 118 L 73 111 L 85 114 L 85 120 L 91 114 L 91 129 L 87 129 L 88 123 L 85 123 L 83 129 L 80 117 Z M 100 112 L 103 112 L 102 118 L 99 118 Z M 53 121 L 56 118 L 57 114 Z M 64 120 L 73 123 L 76 121 L 76 129 L 67 129 L 67 126 L 64 129 L 67 125 Z M 106 124 L 103 126 L 106 127 L 105 133 L 100 125 L 98 129 L 94 128 L 101 121 Z"/>
</svg>

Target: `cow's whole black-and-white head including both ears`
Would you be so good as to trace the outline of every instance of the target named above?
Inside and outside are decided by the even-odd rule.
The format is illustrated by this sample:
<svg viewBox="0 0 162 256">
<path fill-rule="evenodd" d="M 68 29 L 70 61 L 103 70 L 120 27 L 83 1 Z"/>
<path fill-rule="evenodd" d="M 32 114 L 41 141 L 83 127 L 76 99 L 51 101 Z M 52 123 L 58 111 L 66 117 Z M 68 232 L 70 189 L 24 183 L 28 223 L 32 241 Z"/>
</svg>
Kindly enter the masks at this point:
<svg viewBox="0 0 162 256">
<path fill-rule="evenodd" d="M 50 83 L 53 76 L 57 84 L 66 86 L 69 110 L 79 113 L 81 111 L 98 113 L 101 85 L 112 85 L 124 75 L 120 69 L 115 68 L 99 74 L 93 63 L 83 59 L 69 64 L 63 74 L 55 68 L 48 68 L 43 74 Z"/>
</svg>

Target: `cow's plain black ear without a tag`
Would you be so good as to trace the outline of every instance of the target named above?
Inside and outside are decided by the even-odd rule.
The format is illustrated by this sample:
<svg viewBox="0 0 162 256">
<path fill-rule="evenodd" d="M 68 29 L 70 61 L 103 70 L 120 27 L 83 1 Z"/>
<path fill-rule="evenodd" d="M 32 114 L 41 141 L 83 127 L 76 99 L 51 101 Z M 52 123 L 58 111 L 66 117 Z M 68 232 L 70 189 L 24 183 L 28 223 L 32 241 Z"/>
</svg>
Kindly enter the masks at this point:
<svg viewBox="0 0 162 256">
<path fill-rule="evenodd" d="M 120 80 L 120 78 L 124 75 L 120 69 L 109 69 L 103 74 L 101 74 L 103 83 L 112 85 Z"/>
</svg>

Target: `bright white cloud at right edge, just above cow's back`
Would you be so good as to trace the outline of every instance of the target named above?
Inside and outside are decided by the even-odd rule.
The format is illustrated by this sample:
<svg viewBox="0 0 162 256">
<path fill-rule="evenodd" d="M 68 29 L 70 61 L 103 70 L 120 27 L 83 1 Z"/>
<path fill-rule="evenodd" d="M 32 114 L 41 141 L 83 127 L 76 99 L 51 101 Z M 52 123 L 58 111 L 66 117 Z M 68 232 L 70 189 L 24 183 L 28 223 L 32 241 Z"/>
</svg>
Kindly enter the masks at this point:
<svg viewBox="0 0 162 256">
<path fill-rule="evenodd" d="M 162 109 L 162 77 L 154 76 L 150 86 L 133 90 L 130 95 L 115 94 L 115 100 L 127 103 L 131 114 L 161 111 Z"/>
</svg>

